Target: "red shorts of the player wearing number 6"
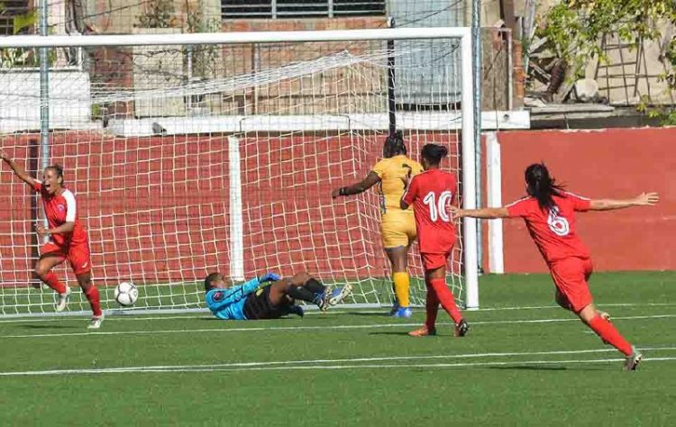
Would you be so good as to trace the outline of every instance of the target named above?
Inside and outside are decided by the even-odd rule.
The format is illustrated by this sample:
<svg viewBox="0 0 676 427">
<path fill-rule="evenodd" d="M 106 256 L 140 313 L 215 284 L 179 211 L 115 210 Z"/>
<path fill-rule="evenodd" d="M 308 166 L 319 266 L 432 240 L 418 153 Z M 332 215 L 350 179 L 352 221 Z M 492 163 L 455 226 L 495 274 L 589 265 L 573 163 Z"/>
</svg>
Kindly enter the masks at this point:
<svg viewBox="0 0 676 427">
<path fill-rule="evenodd" d="M 568 303 L 575 313 L 592 303 L 589 292 L 589 276 L 593 268 L 589 258 L 566 258 L 554 261 L 549 265 L 554 285 L 562 298 L 557 298 L 559 304 Z M 562 300 L 562 301 L 561 301 Z"/>
</svg>

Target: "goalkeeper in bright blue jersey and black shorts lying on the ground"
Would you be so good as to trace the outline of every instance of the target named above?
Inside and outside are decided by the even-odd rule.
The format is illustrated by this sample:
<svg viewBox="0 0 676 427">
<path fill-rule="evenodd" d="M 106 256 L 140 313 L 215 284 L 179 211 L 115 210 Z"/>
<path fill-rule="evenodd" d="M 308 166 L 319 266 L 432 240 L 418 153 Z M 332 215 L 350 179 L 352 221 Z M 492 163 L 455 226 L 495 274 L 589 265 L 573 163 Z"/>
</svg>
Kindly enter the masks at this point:
<svg viewBox="0 0 676 427">
<path fill-rule="evenodd" d="M 326 310 L 343 301 L 351 290 L 349 284 L 330 290 L 305 272 L 291 278 L 266 273 L 238 286 L 227 283 L 221 273 L 205 278 L 206 305 L 224 320 L 279 319 L 289 313 L 302 316 L 303 309 L 296 300 Z"/>
</svg>

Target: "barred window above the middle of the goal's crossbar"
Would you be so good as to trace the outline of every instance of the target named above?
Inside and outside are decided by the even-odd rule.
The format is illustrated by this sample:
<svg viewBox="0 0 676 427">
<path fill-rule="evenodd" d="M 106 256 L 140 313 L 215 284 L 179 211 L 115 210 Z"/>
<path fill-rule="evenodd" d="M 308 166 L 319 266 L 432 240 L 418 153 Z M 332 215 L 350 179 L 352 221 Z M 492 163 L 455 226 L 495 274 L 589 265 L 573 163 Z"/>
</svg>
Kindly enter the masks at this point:
<svg viewBox="0 0 676 427">
<path fill-rule="evenodd" d="M 385 0 L 221 0 L 223 19 L 382 16 Z"/>
</svg>

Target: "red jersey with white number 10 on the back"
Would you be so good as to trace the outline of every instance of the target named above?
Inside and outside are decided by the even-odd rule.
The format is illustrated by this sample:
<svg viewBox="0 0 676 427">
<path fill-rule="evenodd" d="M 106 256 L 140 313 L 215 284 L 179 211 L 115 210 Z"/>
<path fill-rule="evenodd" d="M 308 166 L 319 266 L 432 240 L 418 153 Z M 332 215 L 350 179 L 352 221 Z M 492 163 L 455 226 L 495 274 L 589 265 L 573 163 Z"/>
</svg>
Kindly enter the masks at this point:
<svg viewBox="0 0 676 427">
<path fill-rule="evenodd" d="M 458 186 L 455 175 L 440 169 L 425 170 L 411 179 L 402 200 L 413 204 L 420 253 L 447 253 L 457 232 L 446 205 L 452 203 Z"/>
</svg>

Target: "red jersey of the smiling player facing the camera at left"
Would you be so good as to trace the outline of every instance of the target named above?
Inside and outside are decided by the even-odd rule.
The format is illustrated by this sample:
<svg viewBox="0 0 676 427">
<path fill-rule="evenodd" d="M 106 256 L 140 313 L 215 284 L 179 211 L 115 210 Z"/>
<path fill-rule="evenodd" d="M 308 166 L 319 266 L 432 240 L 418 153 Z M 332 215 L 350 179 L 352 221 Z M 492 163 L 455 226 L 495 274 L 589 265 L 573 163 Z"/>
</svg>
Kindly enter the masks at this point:
<svg viewBox="0 0 676 427">
<path fill-rule="evenodd" d="M 50 241 L 59 246 L 69 244 L 78 245 L 87 243 L 87 232 L 78 220 L 78 207 L 75 202 L 75 195 L 69 189 L 64 188 L 60 195 L 50 195 L 44 190 L 40 182 L 35 181 L 33 190 L 42 196 L 42 205 L 44 213 L 47 216 L 47 223 L 50 228 L 59 227 L 64 223 L 75 223 L 75 228 L 69 233 L 51 234 Z"/>
</svg>

